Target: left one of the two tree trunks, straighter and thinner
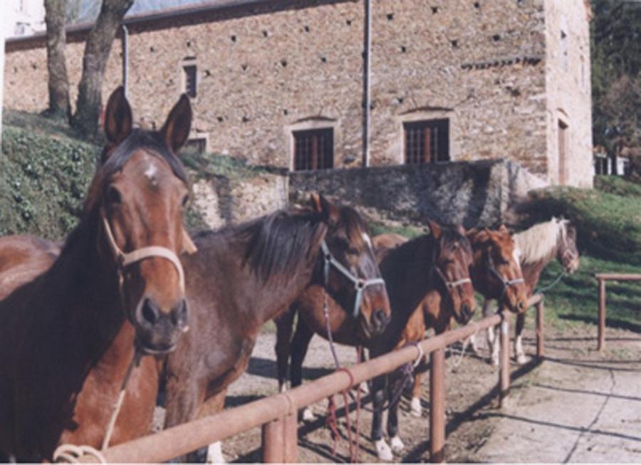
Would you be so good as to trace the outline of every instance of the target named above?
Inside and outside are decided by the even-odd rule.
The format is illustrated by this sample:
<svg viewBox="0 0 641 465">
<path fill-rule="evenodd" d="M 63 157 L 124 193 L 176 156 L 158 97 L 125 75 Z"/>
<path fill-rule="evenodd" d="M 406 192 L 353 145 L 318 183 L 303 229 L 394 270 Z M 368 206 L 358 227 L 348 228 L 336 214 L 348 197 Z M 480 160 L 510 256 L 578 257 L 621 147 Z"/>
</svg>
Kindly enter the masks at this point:
<svg viewBox="0 0 641 465">
<path fill-rule="evenodd" d="M 68 120 L 69 81 L 65 62 L 67 0 L 45 0 L 47 24 L 47 71 L 49 74 L 49 107 L 46 114 Z"/>
</svg>

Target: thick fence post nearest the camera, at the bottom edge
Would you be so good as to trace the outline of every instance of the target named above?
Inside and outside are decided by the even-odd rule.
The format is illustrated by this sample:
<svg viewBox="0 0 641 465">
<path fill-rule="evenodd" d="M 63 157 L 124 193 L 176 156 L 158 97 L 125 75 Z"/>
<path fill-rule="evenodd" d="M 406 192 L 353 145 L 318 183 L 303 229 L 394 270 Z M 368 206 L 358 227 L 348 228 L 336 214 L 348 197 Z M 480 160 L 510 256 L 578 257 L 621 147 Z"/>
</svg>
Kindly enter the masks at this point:
<svg viewBox="0 0 641 465">
<path fill-rule="evenodd" d="M 298 461 L 296 415 L 286 415 L 263 425 L 263 462 L 266 464 Z"/>
</svg>

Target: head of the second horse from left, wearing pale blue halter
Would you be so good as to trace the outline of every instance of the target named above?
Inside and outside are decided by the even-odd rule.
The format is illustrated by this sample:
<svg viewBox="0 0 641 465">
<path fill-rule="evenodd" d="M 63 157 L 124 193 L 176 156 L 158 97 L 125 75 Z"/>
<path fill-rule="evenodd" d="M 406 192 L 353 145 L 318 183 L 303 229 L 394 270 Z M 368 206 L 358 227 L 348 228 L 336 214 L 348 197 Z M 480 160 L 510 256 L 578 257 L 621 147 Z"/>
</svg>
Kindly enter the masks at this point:
<svg viewBox="0 0 641 465">
<path fill-rule="evenodd" d="M 320 253 L 326 290 L 352 318 L 360 320 L 363 338 L 382 333 L 392 310 L 363 217 L 318 194 L 312 194 L 311 207 L 328 224 Z"/>
</svg>

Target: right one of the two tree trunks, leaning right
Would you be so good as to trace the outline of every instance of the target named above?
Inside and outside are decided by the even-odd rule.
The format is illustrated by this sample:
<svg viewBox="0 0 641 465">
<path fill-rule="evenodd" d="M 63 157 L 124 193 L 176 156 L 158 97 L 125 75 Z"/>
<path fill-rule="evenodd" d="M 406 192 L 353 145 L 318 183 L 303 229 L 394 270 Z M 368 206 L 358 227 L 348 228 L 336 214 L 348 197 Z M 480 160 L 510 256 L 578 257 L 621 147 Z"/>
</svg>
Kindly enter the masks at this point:
<svg viewBox="0 0 641 465">
<path fill-rule="evenodd" d="M 103 0 L 100 14 L 87 38 L 83 75 L 71 126 L 83 137 L 95 137 L 102 106 L 101 91 L 105 67 L 113 40 L 134 0 Z"/>
</svg>

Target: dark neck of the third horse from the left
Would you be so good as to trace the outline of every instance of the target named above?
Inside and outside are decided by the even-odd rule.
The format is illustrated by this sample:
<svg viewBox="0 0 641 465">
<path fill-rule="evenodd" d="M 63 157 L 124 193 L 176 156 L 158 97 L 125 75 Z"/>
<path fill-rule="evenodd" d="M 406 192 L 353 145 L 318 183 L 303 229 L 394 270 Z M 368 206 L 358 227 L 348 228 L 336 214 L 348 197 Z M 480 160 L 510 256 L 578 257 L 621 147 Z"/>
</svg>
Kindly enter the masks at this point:
<svg viewBox="0 0 641 465">
<path fill-rule="evenodd" d="M 434 288 L 431 276 L 434 246 L 432 236 L 420 236 L 390 250 L 380 262 L 392 321 L 397 320 L 397 325 L 404 327 L 415 308 Z"/>
</svg>

